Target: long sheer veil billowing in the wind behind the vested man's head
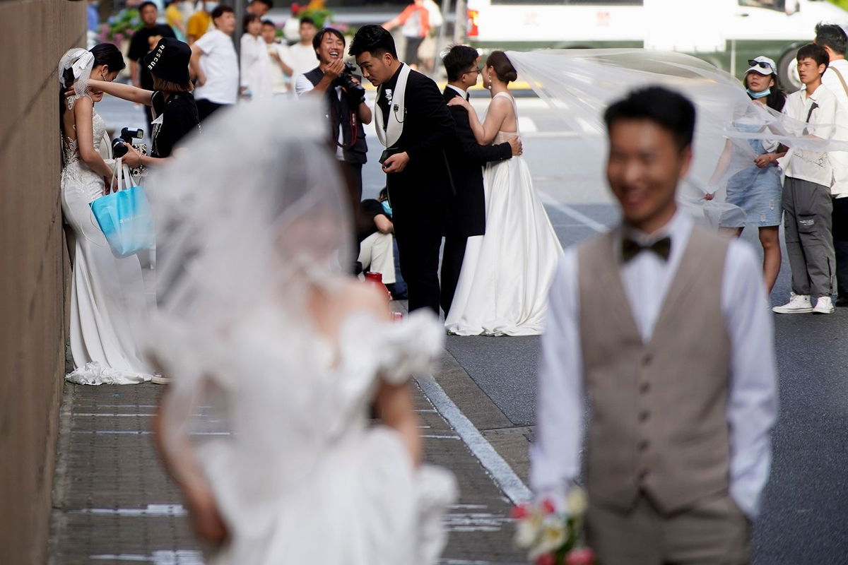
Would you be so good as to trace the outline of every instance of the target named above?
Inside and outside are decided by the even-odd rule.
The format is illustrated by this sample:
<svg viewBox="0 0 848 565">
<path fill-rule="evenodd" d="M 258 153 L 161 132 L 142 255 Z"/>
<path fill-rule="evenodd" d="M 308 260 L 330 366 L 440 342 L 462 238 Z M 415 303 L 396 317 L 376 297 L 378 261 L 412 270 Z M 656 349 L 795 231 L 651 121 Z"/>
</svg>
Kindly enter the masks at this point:
<svg viewBox="0 0 848 565">
<path fill-rule="evenodd" d="M 848 143 L 823 141 L 802 121 L 789 119 L 752 102 L 733 75 L 706 61 L 685 55 L 645 49 L 561 49 L 507 53 L 520 80 L 546 102 L 545 119 L 559 120 L 582 141 L 578 158 L 558 158 L 577 176 L 585 171 L 604 178 L 606 158 L 605 108 L 629 91 L 649 85 L 679 91 L 695 103 L 694 162 L 678 189 L 678 201 L 711 224 L 744 214 L 724 200 L 728 179 L 753 164 L 749 140 L 779 141 L 795 150 L 846 150 Z M 835 126 L 834 126 L 835 127 Z M 823 133 L 822 136 L 825 136 Z M 834 136 L 848 139 L 846 132 Z M 572 146 L 576 147 L 576 146 Z M 605 186 L 595 183 L 592 190 Z M 546 186 L 548 196 L 565 202 L 573 195 Z M 707 193 L 716 198 L 706 202 Z M 729 217 L 729 218 L 728 218 Z"/>
</svg>

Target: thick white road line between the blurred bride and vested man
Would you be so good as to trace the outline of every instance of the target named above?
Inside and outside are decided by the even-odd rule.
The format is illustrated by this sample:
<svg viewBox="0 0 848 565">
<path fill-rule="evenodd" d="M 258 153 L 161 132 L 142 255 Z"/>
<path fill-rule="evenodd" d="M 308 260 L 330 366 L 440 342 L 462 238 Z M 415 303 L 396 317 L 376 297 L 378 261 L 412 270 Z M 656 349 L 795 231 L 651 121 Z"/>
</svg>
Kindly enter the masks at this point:
<svg viewBox="0 0 848 565">
<path fill-rule="evenodd" d="M 460 435 L 460 439 L 465 442 L 474 457 L 477 457 L 477 460 L 483 464 L 488 474 L 492 476 L 500 490 L 504 491 L 510 501 L 514 504 L 527 501 L 531 496 L 530 489 L 527 488 L 527 485 L 524 485 L 522 479 L 519 479 L 509 463 L 506 463 L 504 458 L 500 457 L 498 451 L 495 451 L 492 444 L 483 437 L 477 427 L 471 424 L 471 420 L 462 413 L 454 401 L 450 400 L 450 397 L 438 385 L 436 379 L 431 375 L 416 376 L 416 382 L 433 406 L 442 414 L 442 417 Z"/>
</svg>

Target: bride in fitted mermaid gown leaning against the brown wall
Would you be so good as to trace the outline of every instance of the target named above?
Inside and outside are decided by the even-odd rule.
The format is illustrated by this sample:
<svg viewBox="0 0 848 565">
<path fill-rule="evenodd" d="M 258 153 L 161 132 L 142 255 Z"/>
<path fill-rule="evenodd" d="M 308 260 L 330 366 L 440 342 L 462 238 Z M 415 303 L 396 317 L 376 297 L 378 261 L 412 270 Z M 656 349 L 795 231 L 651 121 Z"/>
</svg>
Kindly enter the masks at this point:
<svg viewBox="0 0 848 565">
<path fill-rule="evenodd" d="M 59 97 L 64 167 L 62 212 L 74 232 L 70 290 L 70 349 L 75 370 L 66 379 L 81 385 L 123 385 L 151 379 L 141 370 L 137 333 L 129 312 L 143 302 L 137 256 L 115 258 L 89 203 L 108 192 L 113 164 L 101 157 L 106 125 L 95 102 L 103 92 L 86 87 L 90 76 L 114 80 L 125 66 L 117 47 L 71 49 L 59 63 Z M 64 92 L 74 86 L 75 95 Z M 141 302 L 140 302 L 141 301 Z"/>
</svg>

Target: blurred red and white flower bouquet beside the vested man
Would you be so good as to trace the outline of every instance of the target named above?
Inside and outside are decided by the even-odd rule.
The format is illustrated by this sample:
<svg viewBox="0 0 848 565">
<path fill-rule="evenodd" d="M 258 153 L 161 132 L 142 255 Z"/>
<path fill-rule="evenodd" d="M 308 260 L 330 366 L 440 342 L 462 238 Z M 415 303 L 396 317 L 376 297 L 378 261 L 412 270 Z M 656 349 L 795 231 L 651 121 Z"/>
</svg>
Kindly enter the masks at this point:
<svg viewBox="0 0 848 565">
<path fill-rule="evenodd" d="M 577 486 L 568 492 L 566 512 L 550 500 L 517 506 L 515 544 L 536 565 L 595 565 L 594 553 L 582 545 L 585 512 L 586 495 Z"/>
</svg>

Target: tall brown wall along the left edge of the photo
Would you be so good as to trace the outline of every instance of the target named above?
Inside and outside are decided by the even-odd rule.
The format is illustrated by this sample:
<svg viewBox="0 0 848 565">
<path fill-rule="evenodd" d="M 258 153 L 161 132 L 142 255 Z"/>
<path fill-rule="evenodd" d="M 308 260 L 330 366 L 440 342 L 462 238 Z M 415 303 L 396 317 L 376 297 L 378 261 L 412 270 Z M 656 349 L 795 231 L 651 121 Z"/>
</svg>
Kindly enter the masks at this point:
<svg viewBox="0 0 848 565">
<path fill-rule="evenodd" d="M 69 278 L 56 65 L 86 3 L 0 0 L 0 563 L 45 560 Z"/>
</svg>

